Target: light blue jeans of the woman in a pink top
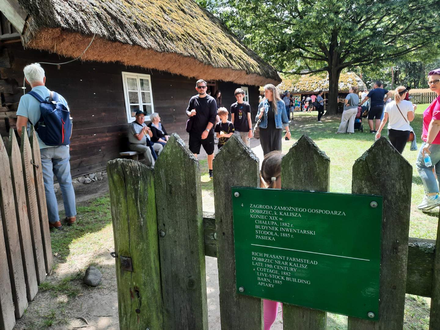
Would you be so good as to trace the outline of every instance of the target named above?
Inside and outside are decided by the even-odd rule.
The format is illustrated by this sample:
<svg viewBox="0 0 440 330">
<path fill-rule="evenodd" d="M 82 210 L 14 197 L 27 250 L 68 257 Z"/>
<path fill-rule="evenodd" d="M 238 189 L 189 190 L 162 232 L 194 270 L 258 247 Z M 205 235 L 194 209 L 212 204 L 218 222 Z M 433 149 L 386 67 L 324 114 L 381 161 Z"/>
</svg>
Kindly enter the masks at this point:
<svg viewBox="0 0 440 330">
<path fill-rule="evenodd" d="M 438 193 L 439 186 L 436 181 L 436 176 L 437 178 L 440 178 L 440 144 L 431 144 L 431 147 L 429 147 L 429 150 L 431 151 L 431 162 L 433 163 L 433 165 L 431 165 L 430 167 L 425 166 L 425 161 L 423 160 L 422 156 L 422 149 L 423 147 L 425 147 L 425 145 L 426 143 L 423 142 L 422 146 L 418 150 L 415 165 L 417 167 L 418 174 L 422 179 L 423 186 L 425 187 L 425 193 Z M 436 171 L 436 176 L 433 172 L 434 169 Z"/>
</svg>

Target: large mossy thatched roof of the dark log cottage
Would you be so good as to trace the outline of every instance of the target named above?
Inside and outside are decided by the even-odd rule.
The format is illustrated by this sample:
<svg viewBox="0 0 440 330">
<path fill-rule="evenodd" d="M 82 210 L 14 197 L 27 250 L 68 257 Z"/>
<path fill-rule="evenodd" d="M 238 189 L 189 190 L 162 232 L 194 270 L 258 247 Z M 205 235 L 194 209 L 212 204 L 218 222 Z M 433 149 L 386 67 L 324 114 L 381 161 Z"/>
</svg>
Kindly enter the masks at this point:
<svg viewBox="0 0 440 330">
<path fill-rule="evenodd" d="M 276 71 L 193 0 L 18 0 L 26 47 L 205 80 L 278 84 Z"/>
</svg>

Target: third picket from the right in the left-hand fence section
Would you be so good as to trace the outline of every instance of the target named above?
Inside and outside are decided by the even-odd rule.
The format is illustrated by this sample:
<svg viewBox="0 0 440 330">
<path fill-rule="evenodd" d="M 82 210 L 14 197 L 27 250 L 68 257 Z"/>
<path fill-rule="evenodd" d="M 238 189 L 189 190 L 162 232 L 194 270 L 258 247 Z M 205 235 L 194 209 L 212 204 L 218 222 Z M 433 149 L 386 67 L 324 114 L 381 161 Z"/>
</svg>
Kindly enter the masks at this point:
<svg viewBox="0 0 440 330">
<path fill-rule="evenodd" d="M 33 246 L 29 228 L 29 218 L 26 205 L 26 191 L 23 181 L 22 160 L 18 148 L 15 131 L 9 131 L 7 142 L 7 154 L 11 168 L 12 187 L 14 190 L 15 212 L 17 214 L 18 236 L 23 257 L 23 270 L 26 282 L 26 294 L 29 301 L 32 301 L 38 292 L 37 274 L 33 257 Z"/>
</svg>

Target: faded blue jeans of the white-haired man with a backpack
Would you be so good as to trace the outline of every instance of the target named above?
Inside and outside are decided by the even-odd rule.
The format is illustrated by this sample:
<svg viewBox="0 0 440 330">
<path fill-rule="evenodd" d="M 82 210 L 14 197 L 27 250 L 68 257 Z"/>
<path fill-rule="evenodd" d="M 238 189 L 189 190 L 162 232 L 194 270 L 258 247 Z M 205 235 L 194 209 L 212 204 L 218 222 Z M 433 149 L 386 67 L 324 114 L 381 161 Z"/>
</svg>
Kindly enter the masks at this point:
<svg viewBox="0 0 440 330">
<path fill-rule="evenodd" d="M 61 189 L 66 216 L 76 216 L 75 192 L 72 186 L 72 176 L 70 176 L 70 148 L 67 146 L 49 147 L 40 149 L 40 153 L 49 222 L 59 221 L 58 203 L 54 192 L 54 174 Z"/>
</svg>

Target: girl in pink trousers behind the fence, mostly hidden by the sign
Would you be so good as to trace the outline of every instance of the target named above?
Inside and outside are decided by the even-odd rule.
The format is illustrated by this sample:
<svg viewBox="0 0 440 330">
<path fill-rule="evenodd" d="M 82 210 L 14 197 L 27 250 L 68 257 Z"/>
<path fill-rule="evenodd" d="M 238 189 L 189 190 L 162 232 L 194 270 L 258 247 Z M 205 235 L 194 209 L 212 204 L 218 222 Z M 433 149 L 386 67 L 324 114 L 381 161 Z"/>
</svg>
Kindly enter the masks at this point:
<svg viewBox="0 0 440 330">
<path fill-rule="evenodd" d="M 272 151 L 264 157 L 261 164 L 260 187 L 281 189 L 281 159 L 284 156 L 279 151 Z M 264 330 L 270 330 L 278 314 L 277 301 L 263 299 Z"/>
</svg>

